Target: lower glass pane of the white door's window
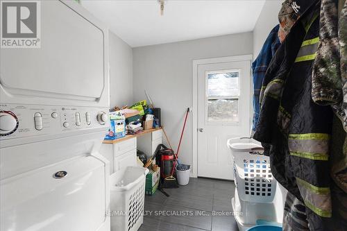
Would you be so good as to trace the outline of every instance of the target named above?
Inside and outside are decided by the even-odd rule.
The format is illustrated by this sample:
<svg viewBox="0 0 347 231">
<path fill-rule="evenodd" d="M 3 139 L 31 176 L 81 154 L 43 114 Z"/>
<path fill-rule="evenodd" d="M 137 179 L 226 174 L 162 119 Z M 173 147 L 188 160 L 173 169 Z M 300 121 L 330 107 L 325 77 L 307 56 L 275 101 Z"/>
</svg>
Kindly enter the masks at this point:
<svg viewBox="0 0 347 231">
<path fill-rule="evenodd" d="M 238 99 L 209 99 L 208 121 L 238 122 Z"/>
</svg>

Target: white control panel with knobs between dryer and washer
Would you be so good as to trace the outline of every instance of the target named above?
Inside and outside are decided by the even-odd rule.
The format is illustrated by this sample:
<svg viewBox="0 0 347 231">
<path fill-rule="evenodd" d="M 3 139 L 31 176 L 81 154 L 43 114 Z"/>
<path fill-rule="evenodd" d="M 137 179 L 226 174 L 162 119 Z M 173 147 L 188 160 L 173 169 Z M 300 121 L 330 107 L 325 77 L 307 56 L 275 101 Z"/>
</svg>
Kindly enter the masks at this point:
<svg viewBox="0 0 347 231">
<path fill-rule="evenodd" d="M 58 135 L 108 124 L 108 108 L 0 105 L 0 139 Z"/>
</svg>

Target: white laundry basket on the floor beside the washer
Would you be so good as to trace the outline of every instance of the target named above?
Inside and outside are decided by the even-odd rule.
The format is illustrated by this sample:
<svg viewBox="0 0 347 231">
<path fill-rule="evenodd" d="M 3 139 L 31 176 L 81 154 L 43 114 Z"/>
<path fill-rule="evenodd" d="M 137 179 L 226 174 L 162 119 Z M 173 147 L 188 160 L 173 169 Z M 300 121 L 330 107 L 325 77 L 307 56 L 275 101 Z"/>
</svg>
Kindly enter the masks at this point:
<svg viewBox="0 0 347 231">
<path fill-rule="evenodd" d="M 144 221 L 144 186 L 149 169 L 127 166 L 110 176 L 111 231 L 136 231 Z"/>
</svg>

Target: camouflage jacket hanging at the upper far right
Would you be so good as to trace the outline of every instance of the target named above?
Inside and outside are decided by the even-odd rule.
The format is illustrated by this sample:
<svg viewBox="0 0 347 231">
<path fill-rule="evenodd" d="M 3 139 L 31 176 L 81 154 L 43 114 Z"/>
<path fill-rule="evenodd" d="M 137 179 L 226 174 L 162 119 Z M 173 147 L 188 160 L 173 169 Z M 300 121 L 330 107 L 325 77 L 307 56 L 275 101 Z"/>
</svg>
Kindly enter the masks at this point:
<svg viewBox="0 0 347 231">
<path fill-rule="evenodd" d="M 347 132 L 347 77 L 346 67 L 344 67 L 343 59 L 340 58 L 337 4 L 337 0 L 322 0 L 321 3 L 319 46 L 312 73 L 312 99 L 320 105 L 331 105 Z M 346 33 L 346 24 L 344 24 L 346 15 L 344 14 L 346 14 L 346 9 L 341 12 L 342 52 L 343 49 L 346 49 L 343 42 L 343 37 L 346 36 L 344 35 Z M 344 67 L 342 72 L 341 66 Z"/>
</svg>

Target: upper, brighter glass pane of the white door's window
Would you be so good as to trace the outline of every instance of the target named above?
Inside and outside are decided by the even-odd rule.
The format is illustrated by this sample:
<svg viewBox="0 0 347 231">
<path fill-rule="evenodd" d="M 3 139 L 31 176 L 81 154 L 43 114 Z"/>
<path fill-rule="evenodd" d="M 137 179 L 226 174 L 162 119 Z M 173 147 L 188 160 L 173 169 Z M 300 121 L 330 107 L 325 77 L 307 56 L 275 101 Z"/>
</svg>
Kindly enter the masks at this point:
<svg viewBox="0 0 347 231">
<path fill-rule="evenodd" d="M 208 97 L 239 96 L 239 71 L 208 74 Z"/>
</svg>

